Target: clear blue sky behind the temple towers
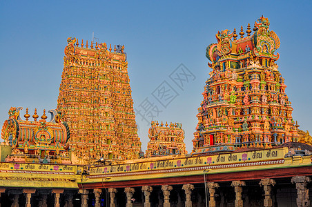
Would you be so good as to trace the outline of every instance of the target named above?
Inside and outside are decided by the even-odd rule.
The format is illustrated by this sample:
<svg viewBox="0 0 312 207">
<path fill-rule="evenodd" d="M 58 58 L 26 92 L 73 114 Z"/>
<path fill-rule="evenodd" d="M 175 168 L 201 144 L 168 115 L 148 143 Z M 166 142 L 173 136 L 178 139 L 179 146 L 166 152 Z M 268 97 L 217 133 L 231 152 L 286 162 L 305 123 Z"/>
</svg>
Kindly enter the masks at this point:
<svg viewBox="0 0 312 207">
<path fill-rule="evenodd" d="M 197 108 L 208 72 L 206 46 L 218 30 L 244 27 L 261 17 L 280 37 L 277 61 L 292 102 L 293 119 L 312 132 L 312 1 L 1 1 L 0 123 L 10 106 L 21 116 L 57 107 L 68 37 L 125 46 L 135 108 L 147 98 L 159 110 L 154 119 L 181 122 L 191 152 Z M 238 33 L 237 32 L 237 33 Z M 246 35 L 246 34 L 245 34 Z M 194 77 L 179 88 L 169 75 L 183 63 Z M 177 96 L 166 108 L 153 91 L 166 81 Z M 48 119 L 50 117 L 48 116 Z M 150 118 L 149 118 L 150 119 Z M 150 125 L 137 116 L 142 150 Z"/>
</svg>

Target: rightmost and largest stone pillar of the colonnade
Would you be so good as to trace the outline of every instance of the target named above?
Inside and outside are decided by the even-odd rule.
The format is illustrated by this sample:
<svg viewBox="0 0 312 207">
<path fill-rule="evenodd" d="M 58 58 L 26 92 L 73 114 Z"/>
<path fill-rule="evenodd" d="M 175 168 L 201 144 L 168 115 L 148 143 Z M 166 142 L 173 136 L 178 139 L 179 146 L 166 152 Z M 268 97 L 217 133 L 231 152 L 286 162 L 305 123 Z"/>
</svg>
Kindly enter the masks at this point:
<svg viewBox="0 0 312 207">
<path fill-rule="evenodd" d="M 297 188 L 298 207 L 310 206 L 309 189 L 306 188 L 309 182 L 311 182 L 311 178 L 306 176 L 295 176 L 291 178 L 291 183 L 295 183 L 295 188 Z"/>
</svg>

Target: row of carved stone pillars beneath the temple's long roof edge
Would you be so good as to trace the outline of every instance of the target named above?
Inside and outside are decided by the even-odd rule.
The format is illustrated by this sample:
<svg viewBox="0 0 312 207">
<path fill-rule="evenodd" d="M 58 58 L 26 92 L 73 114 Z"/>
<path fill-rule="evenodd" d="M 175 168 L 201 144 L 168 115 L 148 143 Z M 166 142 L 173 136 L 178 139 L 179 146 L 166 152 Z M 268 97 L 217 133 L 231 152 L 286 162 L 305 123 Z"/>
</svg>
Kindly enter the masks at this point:
<svg viewBox="0 0 312 207">
<path fill-rule="evenodd" d="M 306 176 L 295 176 L 292 177 L 291 182 L 295 184 L 295 187 L 297 189 L 297 199 L 296 203 L 299 207 L 307 207 L 310 206 L 310 200 L 309 200 L 309 189 L 307 188 L 307 185 L 309 182 L 311 182 L 310 177 Z M 273 206 L 273 201 L 271 198 L 271 190 L 272 186 L 274 186 L 275 180 L 270 178 L 261 179 L 260 186 L 263 187 L 264 190 L 264 201 L 263 205 L 265 207 L 271 207 Z M 245 181 L 232 181 L 231 186 L 233 186 L 235 191 L 235 207 L 241 207 L 243 206 L 243 199 L 242 199 L 242 190 L 243 187 L 246 186 Z M 206 183 L 206 189 L 208 190 L 208 206 L 215 207 L 215 190 L 216 188 L 219 188 L 219 184 L 217 182 L 208 182 Z M 170 185 L 163 185 L 162 188 L 162 194 L 164 195 L 164 201 L 161 204 L 161 206 L 164 207 L 170 207 L 170 191 L 173 190 L 173 186 Z M 191 200 L 191 194 L 192 190 L 194 190 L 193 184 L 184 184 L 182 186 L 182 190 L 184 190 L 185 193 L 185 206 L 191 207 L 192 206 L 192 200 Z M 6 189 L 0 188 L 0 197 L 1 193 L 5 193 Z M 144 207 L 150 207 L 150 194 L 153 191 L 153 186 L 142 186 L 142 193 L 144 193 Z M 26 189 L 11 189 L 9 190 L 10 195 L 12 195 L 12 207 L 19 206 L 19 196 L 21 194 L 24 194 L 26 197 L 26 207 L 31 207 L 31 199 L 32 195 L 36 193 L 36 189 L 34 188 L 26 188 Z M 47 197 L 48 195 L 54 195 L 54 206 L 59 207 L 60 206 L 60 195 L 61 193 L 64 193 L 64 189 L 52 189 L 52 190 L 41 190 L 39 192 L 39 206 L 46 207 L 47 206 Z M 77 193 L 77 191 L 76 191 Z M 90 193 L 90 190 L 86 189 L 80 189 L 79 195 L 81 197 L 81 207 L 87 207 L 88 206 L 88 196 Z M 101 206 L 101 189 L 93 189 L 93 194 L 95 195 L 95 207 Z M 108 193 L 110 197 L 110 207 L 116 207 L 116 188 L 108 188 Z M 135 188 L 124 188 L 124 193 L 126 193 L 126 207 L 132 207 L 133 206 L 133 194 L 135 193 Z M 37 193 L 38 194 L 38 193 Z M 74 194 L 72 193 L 66 193 L 66 199 L 65 199 L 65 206 L 66 207 L 73 207 L 72 199 L 74 197 Z M 63 201 L 64 202 L 64 201 Z M 0 204 L 1 206 L 1 204 Z"/>
</svg>

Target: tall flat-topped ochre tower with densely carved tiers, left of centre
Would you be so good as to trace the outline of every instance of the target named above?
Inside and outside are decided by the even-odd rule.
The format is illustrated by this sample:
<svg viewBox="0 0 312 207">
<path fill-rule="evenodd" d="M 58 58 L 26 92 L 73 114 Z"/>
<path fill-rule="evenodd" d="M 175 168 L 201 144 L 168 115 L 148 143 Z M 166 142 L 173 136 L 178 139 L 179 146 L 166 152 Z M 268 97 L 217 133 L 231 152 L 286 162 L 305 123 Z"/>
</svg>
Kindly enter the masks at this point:
<svg viewBox="0 0 312 207">
<path fill-rule="evenodd" d="M 141 142 L 124 46 L 68 38 L 57 110 L 70 127 L 70 148 L 83 161 L 135 159 Z"/>
</svg>

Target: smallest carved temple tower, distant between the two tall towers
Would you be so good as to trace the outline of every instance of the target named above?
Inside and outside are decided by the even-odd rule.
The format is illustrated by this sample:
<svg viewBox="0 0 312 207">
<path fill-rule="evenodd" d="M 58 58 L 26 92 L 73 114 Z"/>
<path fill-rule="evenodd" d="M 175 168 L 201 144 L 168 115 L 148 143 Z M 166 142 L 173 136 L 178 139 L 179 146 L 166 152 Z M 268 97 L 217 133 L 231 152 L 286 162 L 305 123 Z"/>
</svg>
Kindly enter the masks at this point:
<svg viewBox="0 0 312 207">
<path fill-rule="evenodd" d="M 159 125 L 152 121 L 148 130 L 146 157 L 186 154 L 184 143 L 184 130 L 181 123 Z"/>
</svg>

